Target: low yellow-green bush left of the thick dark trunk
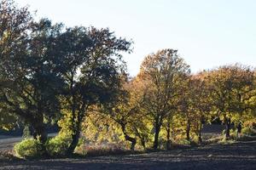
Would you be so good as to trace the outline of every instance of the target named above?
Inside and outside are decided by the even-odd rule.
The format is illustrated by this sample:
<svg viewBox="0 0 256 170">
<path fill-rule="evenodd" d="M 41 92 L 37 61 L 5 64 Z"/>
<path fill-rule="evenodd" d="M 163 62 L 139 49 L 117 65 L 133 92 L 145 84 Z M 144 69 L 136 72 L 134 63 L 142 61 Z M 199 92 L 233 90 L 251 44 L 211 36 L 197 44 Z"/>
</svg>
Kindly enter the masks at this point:
<svg viewBox="0 0 256 170">
<path fill-rule="evenodd" d="M 36 158 L 43 155 L 42 144 L 37 139 L 24 139 L 15 144 L 15 155 L 22 158 Z"/>
</svg>

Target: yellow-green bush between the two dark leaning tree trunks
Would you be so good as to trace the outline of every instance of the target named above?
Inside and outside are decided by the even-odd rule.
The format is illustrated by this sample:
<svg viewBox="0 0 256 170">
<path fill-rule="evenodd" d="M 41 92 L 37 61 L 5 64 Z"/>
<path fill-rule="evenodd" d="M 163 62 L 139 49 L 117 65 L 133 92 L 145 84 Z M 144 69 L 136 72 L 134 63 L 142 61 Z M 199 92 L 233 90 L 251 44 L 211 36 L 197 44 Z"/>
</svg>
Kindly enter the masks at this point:
<svg viewBox="0 0 256 170">
<path fill-rule="evenodd" d="M 46 150 L 49 156 L 65 156 L 71 139 L 67 136 L 57 135 L 46 143 Z"/>
</svg>

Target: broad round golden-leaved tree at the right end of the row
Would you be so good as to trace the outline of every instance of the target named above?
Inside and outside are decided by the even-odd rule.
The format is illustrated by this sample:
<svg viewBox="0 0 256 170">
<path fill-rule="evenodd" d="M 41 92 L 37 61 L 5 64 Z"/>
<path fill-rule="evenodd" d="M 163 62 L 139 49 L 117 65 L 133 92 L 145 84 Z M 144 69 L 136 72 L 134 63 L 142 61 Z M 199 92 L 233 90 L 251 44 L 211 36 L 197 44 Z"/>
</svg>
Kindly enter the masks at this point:
<svg viewBox="0 0 256 170">
<path fill-rule="evenodd" d="M 228 65 L 210 71 L 206 80 L 212 100 L 212 110 L 225 125 L 225 137 L 230 138 L 232 117 L 250 109 L 247 101 L 253 97 L 253 71 L 241 65 Z"/>
</svg>

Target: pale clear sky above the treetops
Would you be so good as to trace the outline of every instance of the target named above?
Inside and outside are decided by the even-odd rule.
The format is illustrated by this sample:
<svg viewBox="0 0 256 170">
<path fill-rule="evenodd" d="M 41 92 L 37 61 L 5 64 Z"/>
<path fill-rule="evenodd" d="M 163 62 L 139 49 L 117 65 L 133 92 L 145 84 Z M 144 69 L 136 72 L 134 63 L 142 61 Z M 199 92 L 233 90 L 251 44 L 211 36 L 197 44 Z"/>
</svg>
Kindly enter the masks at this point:
<svg viewBox="0 0 256 170">
<path fill-rule="evenodd" d="M 239 62 L 256 66 L 254 0 L 15 0 L 66 26 L 109 27 L 132 39 L 132 76 L 147 54 L 178 50 L 193 72 Z"/>
</svg>

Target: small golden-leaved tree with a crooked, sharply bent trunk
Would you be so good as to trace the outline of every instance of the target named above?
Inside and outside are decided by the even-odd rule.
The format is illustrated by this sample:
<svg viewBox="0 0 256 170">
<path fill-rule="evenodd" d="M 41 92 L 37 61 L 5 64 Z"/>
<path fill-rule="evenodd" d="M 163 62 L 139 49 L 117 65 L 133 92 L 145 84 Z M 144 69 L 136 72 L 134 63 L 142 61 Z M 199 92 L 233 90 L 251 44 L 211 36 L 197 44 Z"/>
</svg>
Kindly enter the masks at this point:
<svg viewBox="0 0 256 170">
<path fill-rule="evenodd" d="M 108 108 L 107 114 L 115 123 L 119 125 L 125 140 L 131 142 L 131 150 L 135 149 L 138 136 L 145 147 L 143 134 L 139 132 L 139 127 L 143 126 L 140 122 L 143 118 L 141 105 L 143 103 L 143 91 L 140 91 L 140 83 L 136 79 L 130 82 L 123 82 L 119 97 L 116 102 Z M 139 126 L 137 124 L 139 122 Z M 133 136 L 133 137 L 132 137 Z"/>
</svg>

